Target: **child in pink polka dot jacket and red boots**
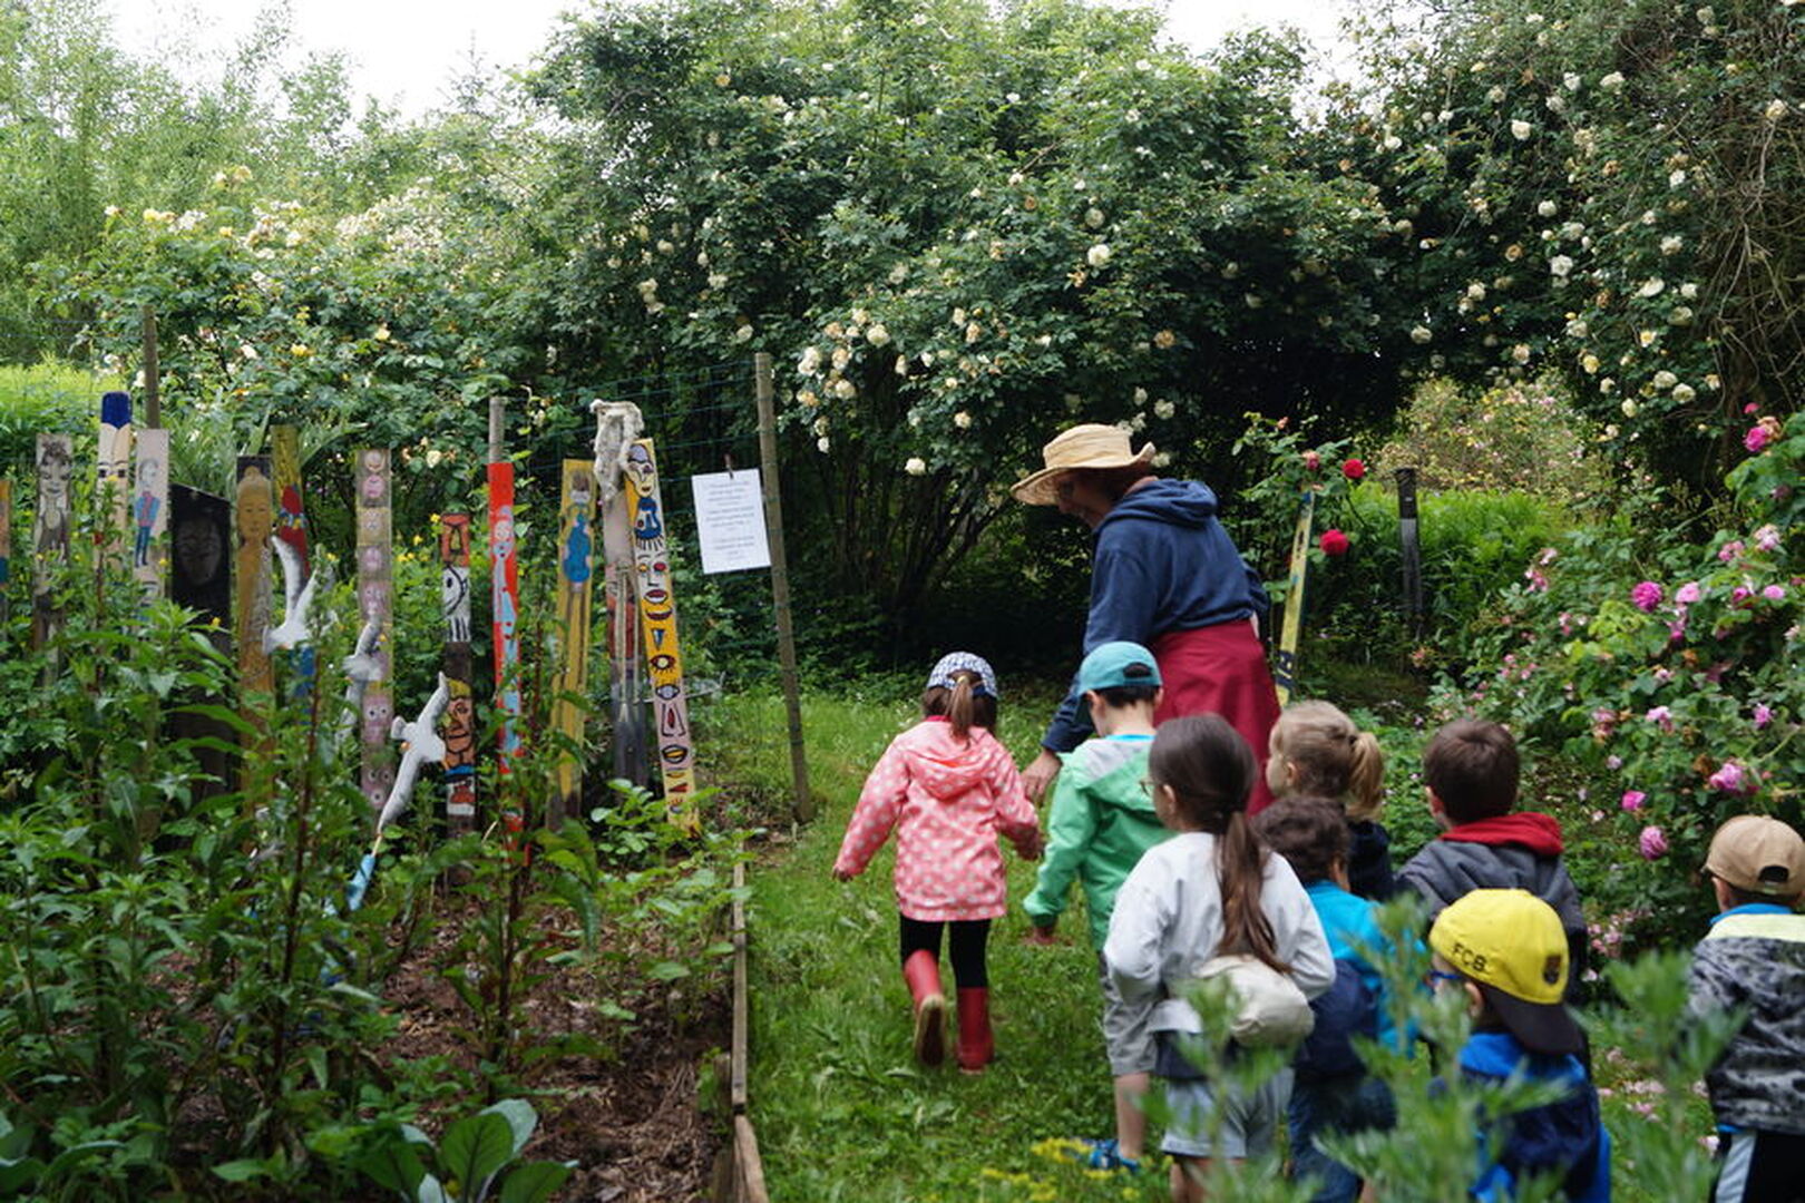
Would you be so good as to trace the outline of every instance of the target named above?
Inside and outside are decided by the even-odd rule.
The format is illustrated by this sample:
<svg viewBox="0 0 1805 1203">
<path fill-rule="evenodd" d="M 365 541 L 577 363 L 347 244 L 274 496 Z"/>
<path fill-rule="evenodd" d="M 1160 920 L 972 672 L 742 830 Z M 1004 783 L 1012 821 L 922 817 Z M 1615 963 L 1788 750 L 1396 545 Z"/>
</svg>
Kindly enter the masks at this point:
<svg viewBox="0 0 1805 1203">
<path fill-rule="evenodd" d="M 921 694 L 922 721 L 890 741 L 865 779 L 834 860 L 857 877 L 897 830 L 897 909 L 902 979 L 915 1001 L 915 1057 L 946 1057 L 940 929 L 949 931 L 958 983 L 958 1068 L 978 1073 L 993 1055 L 984 945 L 1005 911 L 1002 831 L 1025 860 L 1041 837 L 1014 761 L 996 736 L 996 675 L 971 653 L 942 657 Z"/>
</svg>

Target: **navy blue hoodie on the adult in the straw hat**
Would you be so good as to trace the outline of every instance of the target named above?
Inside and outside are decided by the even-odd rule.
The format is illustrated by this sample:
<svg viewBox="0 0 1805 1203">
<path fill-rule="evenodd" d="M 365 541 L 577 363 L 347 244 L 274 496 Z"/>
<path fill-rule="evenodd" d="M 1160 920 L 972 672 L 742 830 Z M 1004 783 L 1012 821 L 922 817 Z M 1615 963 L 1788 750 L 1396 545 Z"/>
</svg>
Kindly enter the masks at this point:
<svg viewBox="0 0 1805 1203">
<path fill-rule="evenodd" d="M 1126 638 L 1152 644 L 1171 631 L 1265 613 L 1260 577 L 1217 521 L 1217 494 L 1195 480 L 1146 480 L 1097 525 L 1085 655 Z M 1043 747 L 1070 752 L 1090 734 L 1076 678 Z"/>
</svg>

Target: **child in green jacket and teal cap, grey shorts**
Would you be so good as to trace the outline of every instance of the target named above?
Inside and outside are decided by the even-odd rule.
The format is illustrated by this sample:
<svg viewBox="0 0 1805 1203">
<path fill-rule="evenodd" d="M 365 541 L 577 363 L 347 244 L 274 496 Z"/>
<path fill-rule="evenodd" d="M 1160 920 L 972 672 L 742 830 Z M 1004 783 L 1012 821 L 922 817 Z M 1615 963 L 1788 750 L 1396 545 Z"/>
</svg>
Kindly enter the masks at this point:
<svg viewBox="0 0 1805 1203">
<path fill-rule="evenodd" d="M 1141 853 L 1171 835 L 1146 788 L 1153 709 L 1161 700 L 1159 666 L 1141 644 L 1101 644 L 1079 666 L 1078 687 L 1097 738 L 1061 756 L 1065 767 L 1054 779 L 1040 880 L 1022 905 L 1034 923 L 1029 943 L 1052 943 L 1072 880 L 1085 886 L 1090 943 L 1103 979 L 1103 1041 L 1115 1077 L 1115 1136 L 1087 1140 L 1079 1156 L 1094 1169 L 1134 1171 L 1146 1143 L 1141 1106 L 1153 1071 L 1153 1037 L 1146 1008 L 1135 1014 L 1123 1006 L 1101 958 L 1115 891 Z"/>
</svg>

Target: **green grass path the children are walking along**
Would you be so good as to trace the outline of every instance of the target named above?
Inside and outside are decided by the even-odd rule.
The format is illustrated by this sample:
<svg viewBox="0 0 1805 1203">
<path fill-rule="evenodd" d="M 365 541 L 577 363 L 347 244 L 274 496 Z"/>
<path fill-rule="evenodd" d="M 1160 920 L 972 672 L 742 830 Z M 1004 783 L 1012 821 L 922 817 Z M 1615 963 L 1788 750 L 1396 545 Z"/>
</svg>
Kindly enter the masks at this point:
<svg viewBox="0 0 1805 1203">
<path fill-rule="evenodd" d="M 1038 702 L 1027 714 L 1038 716 Z M 828 875 L 866 768 L 913 721 L 906 689 L 810 694 L 805 700 L 816 822 L 776 833 L 754 868 L 751 1115 L 771 1198 L 785 1203 L 931 1199 L 1162 1199 L 1162 1172 L 1137 1180 L 1092 1174 L 1067 1163 L 1060 1138 L 1112 1131 L 1110 1082 L 1097 1032 L 1096 958 L 1081 913 L 1061 922 L 1061 945 L 1022 943 L 1014 911 L 993 927 L 991 983 L 998 1061 L 982 1075 L 924 1070 L 910 1055 L 910 1005 L 897 970 L 897 916 L 890 849 L 856 882 Z M 1014 720 L 1014 721 L 1011 721 Z M 740 698 L 717 712 L 724 772 L 774 799 L 789 788 L 783 709 Z M 1023 707 L 1005 711 L 1018 759 L 1038 736 Z M 1408 747 L 1393 732 L 1390 748 Z M 1393 794 L 1395 797 L 1395 794 Z M 1397 806 L 1419 806 L 1397 799 Z M 1397 824 L 1415 831 L 1417 822 Z M 1421 839 L 1421 837 L 1415 837 Z M 1413 851 L 1413 839 L 1399 855 Z M 1005 851 L 1011 900 L 1032 884 L 1034 866 Z M 1081 907 L 1081 900 L 1074 900 Z M 951 994 L 949 970 L 946 987 Z M 1606 1124 L 1646 1124 L 1643 1073 L 1599 1057 Z M 1709 1113 L 1688 1106 L 1702 1136 Z M 1619 1199 L 1666 1199 L 1639 1187 L 1617 1158 Z M 1253 1183 L 1249 1183 L 1253 1185 Z M 1269 1183 L 1267 1183 L 1269 1185 Z"/>
</svg>

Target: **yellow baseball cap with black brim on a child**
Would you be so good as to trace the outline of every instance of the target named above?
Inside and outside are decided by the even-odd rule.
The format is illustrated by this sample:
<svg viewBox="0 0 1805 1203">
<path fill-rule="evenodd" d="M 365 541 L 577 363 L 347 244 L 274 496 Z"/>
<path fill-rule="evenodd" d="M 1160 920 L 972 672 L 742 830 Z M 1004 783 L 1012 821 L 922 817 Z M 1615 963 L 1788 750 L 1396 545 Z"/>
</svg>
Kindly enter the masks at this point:
<svg viewBox="0 0 1805 1203">
<path fill-rule="evenodd" d="M 1525 1048 L 1578 1053 L 1579 1024 L 1567 992 L 1567 931 L 1527 889 L 1475 889 L 1449 904 L 1430 929 L 1430 947 L 1480 987 L 1486 1001 Z"/>
</svg>

